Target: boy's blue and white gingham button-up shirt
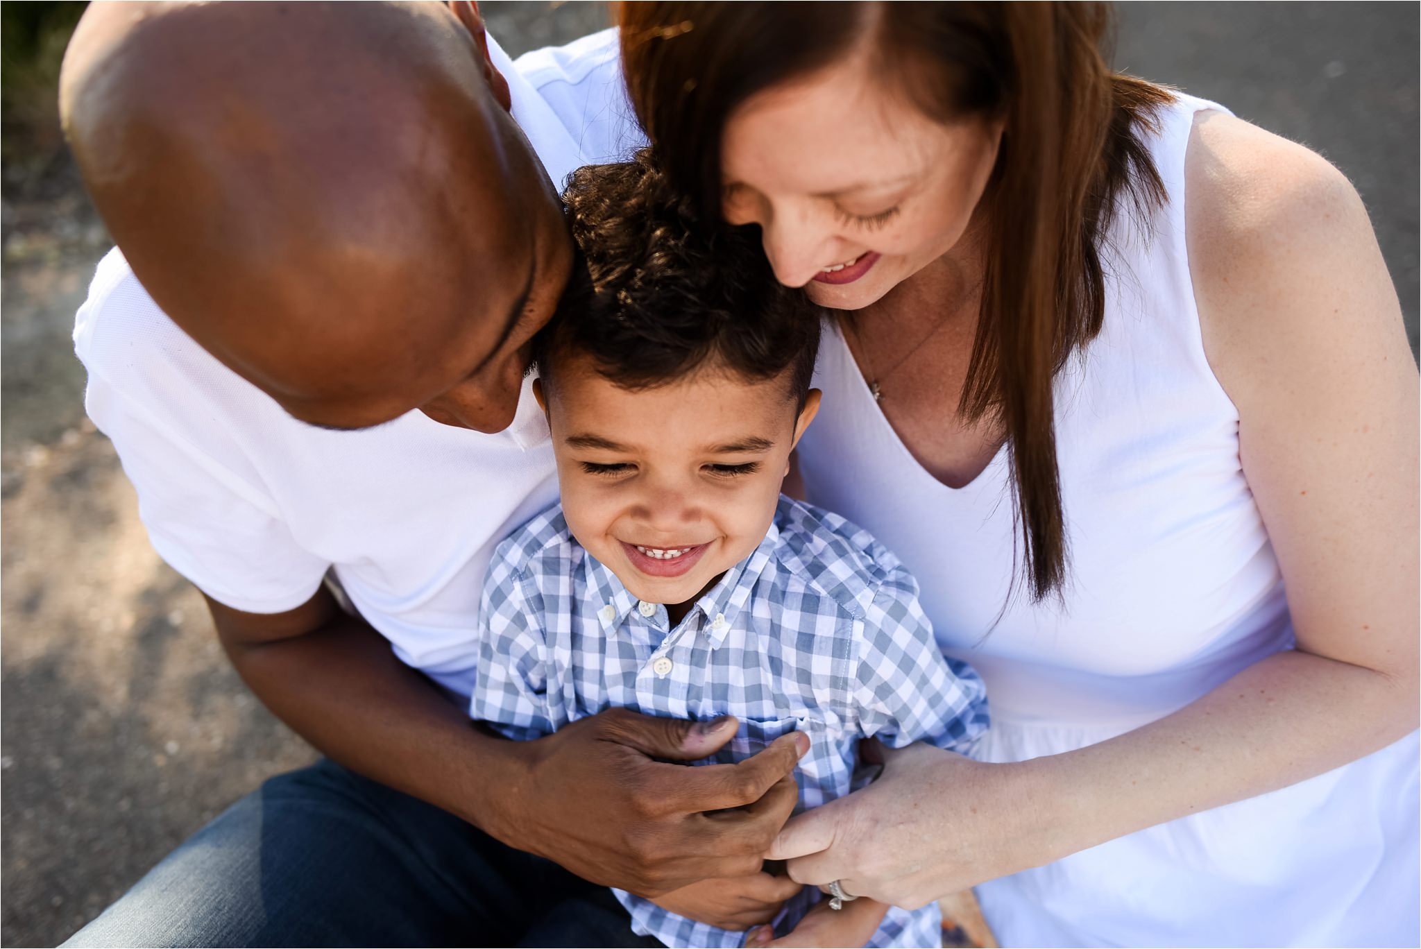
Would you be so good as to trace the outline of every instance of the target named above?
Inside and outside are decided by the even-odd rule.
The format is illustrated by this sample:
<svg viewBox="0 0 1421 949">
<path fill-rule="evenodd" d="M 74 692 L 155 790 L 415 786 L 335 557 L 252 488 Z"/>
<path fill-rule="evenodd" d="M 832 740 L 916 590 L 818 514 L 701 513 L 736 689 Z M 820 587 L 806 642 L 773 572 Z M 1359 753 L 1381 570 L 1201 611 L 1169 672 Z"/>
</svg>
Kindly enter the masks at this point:
<svg viewBox="0 0 1421 949">
<path fill-rule="evenodd" d="M 764 540 L 672 628 L 577 543 L 554 506 L 493 554 L 479 615 L 472 715 L 512 739 L 620 706 L 740 727 L 709 761 L 737 761 L 793 730 L 799 810 L 851 790 L 860 739 L 963 750 L 988 723 L 982 680 L 944 659 L 918 584 L 868 533 L 782 497 Z M 944 788 L 944 793 L 951 793 Z M 625 891 L 632 929 L 668 946 L 740 946 L 743 932 L 695 922 Z M 793 928 L 806 888 L 776 925 Z M 892 908 L 871 946 L 941 945 L 936 905 Z"/>
</svg>

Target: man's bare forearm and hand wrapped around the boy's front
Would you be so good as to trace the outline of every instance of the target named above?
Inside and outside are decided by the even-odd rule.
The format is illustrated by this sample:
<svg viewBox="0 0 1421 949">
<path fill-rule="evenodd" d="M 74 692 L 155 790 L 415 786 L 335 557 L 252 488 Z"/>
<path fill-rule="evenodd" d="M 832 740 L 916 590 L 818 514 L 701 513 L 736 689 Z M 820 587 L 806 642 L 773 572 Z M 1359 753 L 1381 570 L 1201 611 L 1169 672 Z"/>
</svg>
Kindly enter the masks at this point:
<svg viewBox="0 0 1421 949">
<path fill-rule="evenodd" d="M 593 882 L 655 895 L 757 872 L 794 807 L 789 774 L 803 736 L 739 764 L 689 769 L 652 759 L 702 759 L 735 734 L 733 719 L 612 709 L 507 742 L 476 727 L 325 588 L 280 614 L 207 605 L 243 680 L 324 754 Z M 745 810 L 725 813 L 733 807 Z"/>
</svg>

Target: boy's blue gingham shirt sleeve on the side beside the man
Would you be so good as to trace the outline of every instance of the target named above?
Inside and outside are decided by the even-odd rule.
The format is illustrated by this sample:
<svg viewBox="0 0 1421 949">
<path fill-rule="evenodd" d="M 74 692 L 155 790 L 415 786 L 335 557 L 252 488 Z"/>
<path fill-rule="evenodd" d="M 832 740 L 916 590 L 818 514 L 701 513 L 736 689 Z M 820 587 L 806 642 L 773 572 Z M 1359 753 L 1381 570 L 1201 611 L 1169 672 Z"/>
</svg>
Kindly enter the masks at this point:
<svg viewBox="0 0 1421 949">
<path fill-rule="evenodd" d="M 527 578 L 504 554 L 506 546 L 495 551 L 479 600 L 479 666 L 469 717 L 526 742 L 554 730 L 547 706 L 547 638 L 540 597 L 529 595 Z"/>
</svg>

